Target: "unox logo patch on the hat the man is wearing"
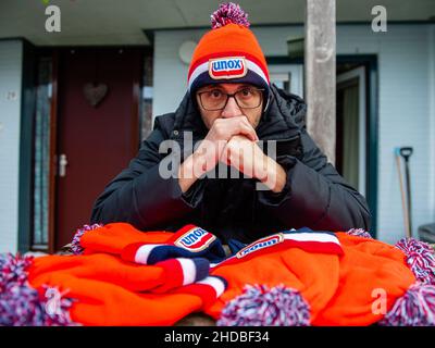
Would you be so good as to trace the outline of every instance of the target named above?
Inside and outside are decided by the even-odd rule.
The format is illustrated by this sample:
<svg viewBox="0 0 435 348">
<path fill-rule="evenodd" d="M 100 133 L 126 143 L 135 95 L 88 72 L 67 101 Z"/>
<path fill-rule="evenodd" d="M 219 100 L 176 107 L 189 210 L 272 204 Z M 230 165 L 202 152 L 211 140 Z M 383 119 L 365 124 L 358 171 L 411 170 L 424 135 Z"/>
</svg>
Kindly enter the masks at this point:
<svg viewBox="0 0 435 348">
<path fill-rule="evenodd" d="M 209 75 L 214 79 L 244 77 L 248 70 L 244 57 L 227 57 L 209 60 Z"/>
</svg>

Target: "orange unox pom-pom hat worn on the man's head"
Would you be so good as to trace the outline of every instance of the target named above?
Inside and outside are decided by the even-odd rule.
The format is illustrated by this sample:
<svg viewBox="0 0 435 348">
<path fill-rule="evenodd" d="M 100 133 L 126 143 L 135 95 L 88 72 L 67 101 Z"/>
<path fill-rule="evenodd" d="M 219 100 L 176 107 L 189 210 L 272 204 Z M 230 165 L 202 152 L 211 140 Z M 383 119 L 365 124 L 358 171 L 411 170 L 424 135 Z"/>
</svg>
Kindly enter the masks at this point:
<svg viewBox="0 0 435 348">
<path fill-rule="evenodd" d="M 235 3 L 223 3 L 211 15 L 212 29 L 196 47 L 188 72 L 190 94 L 199 87 L 247 83 L 269 92 L 269 72 L 248 15 Z"/>
</svg>

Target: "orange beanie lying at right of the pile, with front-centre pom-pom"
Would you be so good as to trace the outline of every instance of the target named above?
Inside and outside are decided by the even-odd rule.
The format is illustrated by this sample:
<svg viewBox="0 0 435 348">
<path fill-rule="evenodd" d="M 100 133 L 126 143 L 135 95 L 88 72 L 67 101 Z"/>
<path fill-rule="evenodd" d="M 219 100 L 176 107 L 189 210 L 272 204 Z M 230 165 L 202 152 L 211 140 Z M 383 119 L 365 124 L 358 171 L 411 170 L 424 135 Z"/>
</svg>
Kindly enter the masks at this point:
<svg viewBox="0 0 435 348">
<path fill-rule="evenodd" d="M 228 288 L 206 313 L 219 325 L 371 325 L 415 283 L 405 259 L 394 246 L 347 233 L 269 236 L 212 270 Z"/>
</svg>

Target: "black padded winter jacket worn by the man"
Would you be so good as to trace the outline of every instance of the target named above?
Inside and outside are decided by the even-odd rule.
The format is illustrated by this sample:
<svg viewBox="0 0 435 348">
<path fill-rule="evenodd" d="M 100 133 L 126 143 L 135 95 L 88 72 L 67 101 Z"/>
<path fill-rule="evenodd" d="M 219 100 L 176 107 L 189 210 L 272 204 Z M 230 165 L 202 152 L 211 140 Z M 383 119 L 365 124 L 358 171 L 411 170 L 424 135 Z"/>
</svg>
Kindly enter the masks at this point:
<svg viewBox="0 0 435 348">
<path fill-rule="evenodd" d="M 201 226 L 224 241 L 256 240 L 291 227 L 347 231 L 370 228 L 365 199 L 337 173 L 306 130 L 306 104 L 272 86 L 271 104 L 256 128 L 260 140 L 276 140 L 276 161 L 285 169 L 282 192 L 256 190 L 253 178 L 198 179 L 185 194 L 175 177 L 159 175 L 167 153 L 159 145 L 175 140 L 182 149 L 184 132 L 194 142 L 206 137 L 197 107 L 186 94 L 175 113 L 156 117 L 140 150 L 98 197 L 91 223 L 128 222 L 141 231 L 176 231 L 187 223 Z M 187 156 L 187 154 L 184 154 Z"/>
</svg>

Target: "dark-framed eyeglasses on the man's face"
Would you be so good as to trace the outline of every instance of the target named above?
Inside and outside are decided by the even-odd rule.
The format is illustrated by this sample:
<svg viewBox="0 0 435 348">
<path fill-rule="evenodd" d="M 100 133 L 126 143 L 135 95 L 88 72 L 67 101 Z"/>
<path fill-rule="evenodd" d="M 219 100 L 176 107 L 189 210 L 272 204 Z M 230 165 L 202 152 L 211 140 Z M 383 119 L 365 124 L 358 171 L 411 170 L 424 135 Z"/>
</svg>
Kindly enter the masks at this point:
<svg viewBox="0 0 435 348">
<path fill-rule="evenodd" d="M 261 88 L 245 87 L 234 94 L 226 94 L 221 89 L 214 88 L 198 92 L 201 107 L 208 111 L 225 109 L 229 97 L 236 100 L 240 109 L 256 109 L 261 105 L 263 91 Z"/>
</svg>

